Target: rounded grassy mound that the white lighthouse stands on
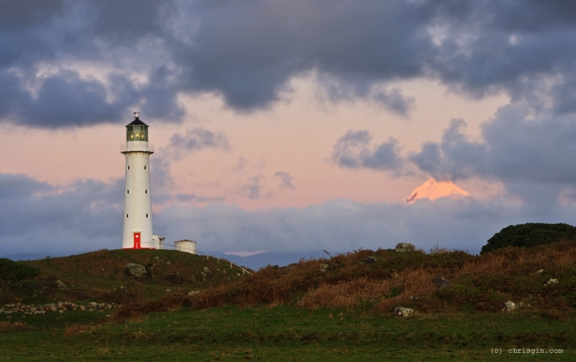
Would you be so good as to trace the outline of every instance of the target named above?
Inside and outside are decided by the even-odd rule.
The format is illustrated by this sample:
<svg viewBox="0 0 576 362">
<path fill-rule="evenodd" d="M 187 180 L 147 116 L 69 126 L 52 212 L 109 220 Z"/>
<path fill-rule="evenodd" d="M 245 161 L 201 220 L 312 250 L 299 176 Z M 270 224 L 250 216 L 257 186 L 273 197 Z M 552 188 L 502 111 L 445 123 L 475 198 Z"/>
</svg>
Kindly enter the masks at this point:
<svg viewBox="0 0 576 362">
<path fill-rule="evenodd" d="M 14 303 L 18 298 L 27 304 L 89 300 L 124 304 L 168 293 L 186 294 L 246 276 L 237 266 L 231 269 L 224 259 L 175 250 L 98 250 L 19 263 L 37 269 L 39 275 L 29 280 L 0 279 L 0 303 Z M 149 277 L 140 282 L 128 276 L 130 263 L 145 266 Z"/>
</svg>

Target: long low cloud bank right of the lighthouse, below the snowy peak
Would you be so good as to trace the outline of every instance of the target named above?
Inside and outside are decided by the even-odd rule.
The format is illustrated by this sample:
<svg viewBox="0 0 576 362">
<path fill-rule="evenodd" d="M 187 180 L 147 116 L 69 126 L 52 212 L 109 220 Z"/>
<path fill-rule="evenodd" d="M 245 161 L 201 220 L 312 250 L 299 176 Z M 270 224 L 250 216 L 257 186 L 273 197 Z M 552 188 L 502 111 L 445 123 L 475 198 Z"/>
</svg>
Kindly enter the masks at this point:
<svg viewBox="0 0 576 362">
<path fill-rule="evenodd" d="M 193 239 L 198 250 L 274 250 L 346 252 L 358 248 L 394 248 L 413 243 L 425 251 L 445 248 L 480 252 L 503 227 L 518 223 L 570 223 L 576 205 L 556 204 L 540 211 L 506 198 L 473 198 L 413 205 L 362 204 L 333 199 L 306 208 L 244 211 L 212 204 L 205 208 L 172 205 L 155 220 L 169 239 Z"/>
</svg>

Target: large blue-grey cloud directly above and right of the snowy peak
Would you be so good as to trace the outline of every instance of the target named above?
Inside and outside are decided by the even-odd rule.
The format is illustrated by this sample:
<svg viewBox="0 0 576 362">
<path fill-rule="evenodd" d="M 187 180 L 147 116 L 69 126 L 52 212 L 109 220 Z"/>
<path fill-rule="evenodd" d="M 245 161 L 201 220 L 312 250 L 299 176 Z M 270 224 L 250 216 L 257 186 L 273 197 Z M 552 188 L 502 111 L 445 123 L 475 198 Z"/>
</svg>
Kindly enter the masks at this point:
<svg viewBox="0 0 576 362">
<path fill-rule="evenodd" d="M 480 177 L 503 182 L 512 195 L 542 204 L 556 202 L 575 188 L 576 117 L 552 111 L 533 114 L 529 107 L 501 107 L 482 125 L 482 137 L 469 139 L 466 123 L 453 119 L 441 142 L 427 142 L 408 160 L 436 179 Z"/>
</svg>

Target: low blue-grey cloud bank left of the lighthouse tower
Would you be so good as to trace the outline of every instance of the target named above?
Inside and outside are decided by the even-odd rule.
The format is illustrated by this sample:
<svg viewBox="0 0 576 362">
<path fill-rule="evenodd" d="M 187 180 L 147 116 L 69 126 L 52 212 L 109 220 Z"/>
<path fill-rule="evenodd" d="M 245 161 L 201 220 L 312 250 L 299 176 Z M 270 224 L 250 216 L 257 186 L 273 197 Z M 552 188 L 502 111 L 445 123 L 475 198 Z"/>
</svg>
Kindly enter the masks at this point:
<svg viewBox="0 0 576 362">
<path fill-rule="evenodd" d="M 113 248 L 119 241 L 124 180 L 75 181 L 66 188 L 0 174 L 2 255 Z"/>
</svg>

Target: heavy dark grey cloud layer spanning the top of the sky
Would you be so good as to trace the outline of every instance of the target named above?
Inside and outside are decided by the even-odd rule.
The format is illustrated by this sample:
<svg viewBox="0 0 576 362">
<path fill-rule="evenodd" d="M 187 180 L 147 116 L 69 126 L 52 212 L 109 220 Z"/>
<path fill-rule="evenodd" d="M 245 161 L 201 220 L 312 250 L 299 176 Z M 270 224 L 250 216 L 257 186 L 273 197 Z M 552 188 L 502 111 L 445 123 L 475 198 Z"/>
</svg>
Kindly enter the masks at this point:
<svg viewBox="0 0 576 362">
<path fill-rule="evenodd" d="M 334 101 L 368 98 L 405 116 L 413 98 L 382 86 L 416 77 L 567 114 L 576 110 L 574 8 L 519 0 L 3 1 L 0 88 L 8 98 L 0 121 L 123 123 L 134 107 L 178 121 L 180 92 L 216 93 L 250 111 L 309 74 Z M 85 65 L 106 71 L 98 79 L 71 73 Z"/>
</svg>

